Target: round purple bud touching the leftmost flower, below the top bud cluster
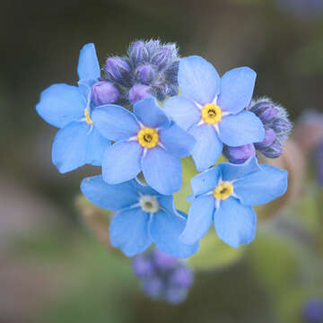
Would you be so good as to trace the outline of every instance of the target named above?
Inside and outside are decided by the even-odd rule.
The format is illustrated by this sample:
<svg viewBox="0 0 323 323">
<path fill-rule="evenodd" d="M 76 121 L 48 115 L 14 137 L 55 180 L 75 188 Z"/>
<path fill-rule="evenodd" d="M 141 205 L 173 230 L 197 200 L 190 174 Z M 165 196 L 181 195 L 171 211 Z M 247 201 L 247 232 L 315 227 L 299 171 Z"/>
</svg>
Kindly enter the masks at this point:
<svg viewBox="0 0 323 323">
<path fill-rule="evenodd" d="M 117 87 L 110 82 L 100 81 L 92 85 L 91 100 L 95 105 L 114 103 L 118 97 Z"/>
</svg>

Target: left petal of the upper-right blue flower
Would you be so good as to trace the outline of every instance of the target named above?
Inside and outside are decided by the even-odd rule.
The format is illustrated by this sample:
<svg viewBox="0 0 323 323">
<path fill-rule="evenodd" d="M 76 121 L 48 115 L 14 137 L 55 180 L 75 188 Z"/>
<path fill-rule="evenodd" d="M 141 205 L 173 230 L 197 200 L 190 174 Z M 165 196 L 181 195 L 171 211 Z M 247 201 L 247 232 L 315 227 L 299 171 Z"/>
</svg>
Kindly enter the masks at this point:
<svg viewBox="0 0 323 323">
<path fill-rule="evenodd" d="M 200 109 L 192 100 L 184 97 L 171 97 L 166 100 L 162 109 L 184 130 L 188 130 L 201 119 Z"/>
</svg>

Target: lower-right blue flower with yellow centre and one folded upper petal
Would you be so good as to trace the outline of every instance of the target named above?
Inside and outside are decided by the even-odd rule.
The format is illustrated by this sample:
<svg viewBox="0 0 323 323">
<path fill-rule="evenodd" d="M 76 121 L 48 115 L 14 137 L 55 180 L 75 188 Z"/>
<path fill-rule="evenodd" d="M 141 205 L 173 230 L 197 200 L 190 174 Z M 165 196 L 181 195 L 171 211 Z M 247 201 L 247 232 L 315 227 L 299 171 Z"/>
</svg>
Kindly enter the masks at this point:
<svg viewBox="0 0 323 323">
<path fill-rule="evenodd" d="M 188 223 L 179 240 L 196 243 L 211 223 L 231 247 L 249 244 L 256 235 L 257 217 L 251 205 L 266 204 L 287 189 L 286 170 L 259 165 L 256 157 L 244 164 L 224 162 L 191 179 L 193 195 Z"/>
</svg>

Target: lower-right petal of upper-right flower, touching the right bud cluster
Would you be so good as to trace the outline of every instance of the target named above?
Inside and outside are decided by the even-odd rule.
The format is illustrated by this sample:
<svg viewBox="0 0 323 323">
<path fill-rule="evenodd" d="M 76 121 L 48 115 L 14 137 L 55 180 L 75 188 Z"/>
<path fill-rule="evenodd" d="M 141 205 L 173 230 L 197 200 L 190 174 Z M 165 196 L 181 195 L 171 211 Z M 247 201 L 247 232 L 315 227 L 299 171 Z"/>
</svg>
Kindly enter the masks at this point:
<svg viewBox="0 0 323 323">
<path fill-rule="evenodd" d="M 237 115 L 224 117 L 219 122 L 219 130 L 220 139 L 231 147 L 258 143 L 265 138 L 264 125 L 250 111 L 241 111 Z"/>
</svg>

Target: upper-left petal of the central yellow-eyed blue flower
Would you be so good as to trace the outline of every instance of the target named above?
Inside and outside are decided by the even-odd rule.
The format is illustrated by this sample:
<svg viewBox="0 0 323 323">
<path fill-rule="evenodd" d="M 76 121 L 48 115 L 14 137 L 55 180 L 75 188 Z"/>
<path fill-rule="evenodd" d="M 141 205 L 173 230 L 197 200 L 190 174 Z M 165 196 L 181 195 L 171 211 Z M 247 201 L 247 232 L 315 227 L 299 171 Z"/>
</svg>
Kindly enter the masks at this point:
<svg viewBox="0 0 323 323">
<path fill-rule="evenodd" d="M 92 121 L 101 135 L 113 141 L 127 140 L 136 135 L 140 129 L 131 112 L 114 104 L 93 109 Z"/>
</svg>

